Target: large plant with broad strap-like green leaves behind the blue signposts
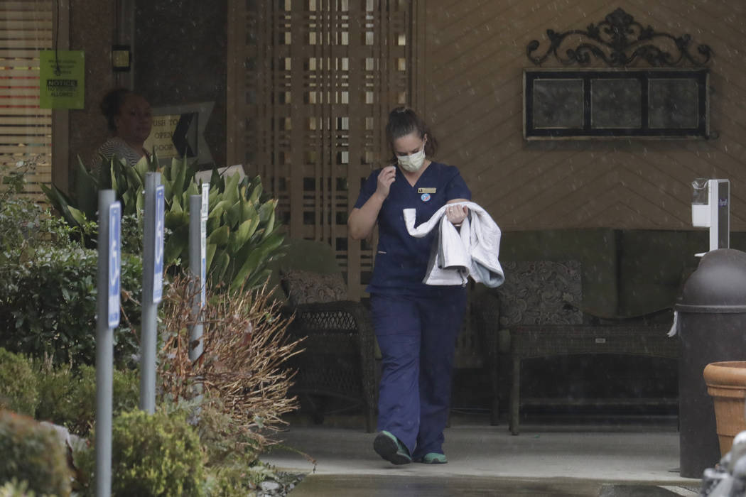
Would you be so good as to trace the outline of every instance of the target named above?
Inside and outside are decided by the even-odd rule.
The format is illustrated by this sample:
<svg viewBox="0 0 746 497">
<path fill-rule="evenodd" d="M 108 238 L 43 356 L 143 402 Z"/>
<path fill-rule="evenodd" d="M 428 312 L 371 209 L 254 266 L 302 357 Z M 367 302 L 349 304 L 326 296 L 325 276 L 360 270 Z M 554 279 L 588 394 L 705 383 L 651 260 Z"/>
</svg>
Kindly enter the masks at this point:
<svg viewBox="0 0 746 497">
<path fill-rule="evenodd" d="M 143 157 L 131 167 L 114 157 L 104 159 L 98 174 L 91 173 L 78 159 L 75 189 L 68 196 L 54 186 L 42 186 L 49 201 L 73 227 L 84 227 L 95 219 L 98 190 L 113 189 L 122 202 L 122 215 L 142 218 L 145 205 L 145 174 L 161 173 L 166 200 L 166 265 L 183 270 L 189 259 L 189 196 L 201 186 L 195 169 L 186 159 L 172 159 L 161 166 L 157 157 Z M 266 268 L 282 246 L 284 235 L 275 223 L 278 201 L 263 191 L 259 176 L 249 179 L 239 174 L 222 177 L 213 169 L 210 178 L 210 213 L 207 218 L 207 272 L 213 283 L 251 288 L 269 276 Z"/>
</svg>

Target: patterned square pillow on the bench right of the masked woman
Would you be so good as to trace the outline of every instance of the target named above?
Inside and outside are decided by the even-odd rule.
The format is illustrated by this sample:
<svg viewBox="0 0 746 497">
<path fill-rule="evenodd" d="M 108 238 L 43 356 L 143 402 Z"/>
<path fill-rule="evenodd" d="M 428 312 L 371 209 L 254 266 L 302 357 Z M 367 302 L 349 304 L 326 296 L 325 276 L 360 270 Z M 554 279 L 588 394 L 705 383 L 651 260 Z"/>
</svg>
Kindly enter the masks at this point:
<svg viewBox="0 0 746 497">
<path fill-rule="evenodd" d="M 500 324 L 580 324 L 583 314 L 573 306 L 583 299 L 580 262 L 504 262 L 505 282 L 498 288 Z"/>
</svg>

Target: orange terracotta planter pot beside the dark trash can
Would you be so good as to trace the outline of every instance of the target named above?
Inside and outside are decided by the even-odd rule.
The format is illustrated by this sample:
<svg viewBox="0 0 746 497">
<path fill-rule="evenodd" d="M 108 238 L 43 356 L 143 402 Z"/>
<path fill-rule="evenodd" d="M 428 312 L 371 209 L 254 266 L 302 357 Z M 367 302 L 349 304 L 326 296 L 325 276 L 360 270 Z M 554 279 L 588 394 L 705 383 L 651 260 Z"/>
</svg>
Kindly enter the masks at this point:
<svg viewBox="0 0 746 497">
<path fill-rule="evenodd" d="M 704 368 L 707 393 L 715 405 L 721 456 L 730 452 L 733 437 L 746 430 L 746 361 L 713 362 Z"/>
</svg>

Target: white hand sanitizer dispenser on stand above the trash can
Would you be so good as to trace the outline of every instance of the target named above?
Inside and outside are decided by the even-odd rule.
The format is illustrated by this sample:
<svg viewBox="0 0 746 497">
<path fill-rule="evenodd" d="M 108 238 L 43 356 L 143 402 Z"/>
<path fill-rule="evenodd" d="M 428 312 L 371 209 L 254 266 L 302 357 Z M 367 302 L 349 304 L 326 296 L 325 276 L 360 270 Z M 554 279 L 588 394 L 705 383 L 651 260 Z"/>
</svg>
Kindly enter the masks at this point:
<svg viewBox="0 0 746 497">
<path fill-rule="evenodd" d="M 692 226 L 709 228 L 709 250 L 729 248 L 730 181 L 698 178 L 692 187 Z"/>
</svg>

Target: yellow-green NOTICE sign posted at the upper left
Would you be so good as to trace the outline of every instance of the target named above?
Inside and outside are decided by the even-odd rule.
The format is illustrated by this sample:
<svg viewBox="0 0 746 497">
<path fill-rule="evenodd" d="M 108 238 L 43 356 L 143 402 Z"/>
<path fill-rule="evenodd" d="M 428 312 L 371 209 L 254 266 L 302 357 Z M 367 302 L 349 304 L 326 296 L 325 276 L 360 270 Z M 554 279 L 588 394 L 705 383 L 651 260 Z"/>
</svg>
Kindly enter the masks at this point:
<svg viewBox="0 0 746 497">
<path fill-rule="evenodd" d="M 85 106 L 85 55 L 82 50 L 42 50 L 39 58 L 39 107 Z"/>
</svg>

